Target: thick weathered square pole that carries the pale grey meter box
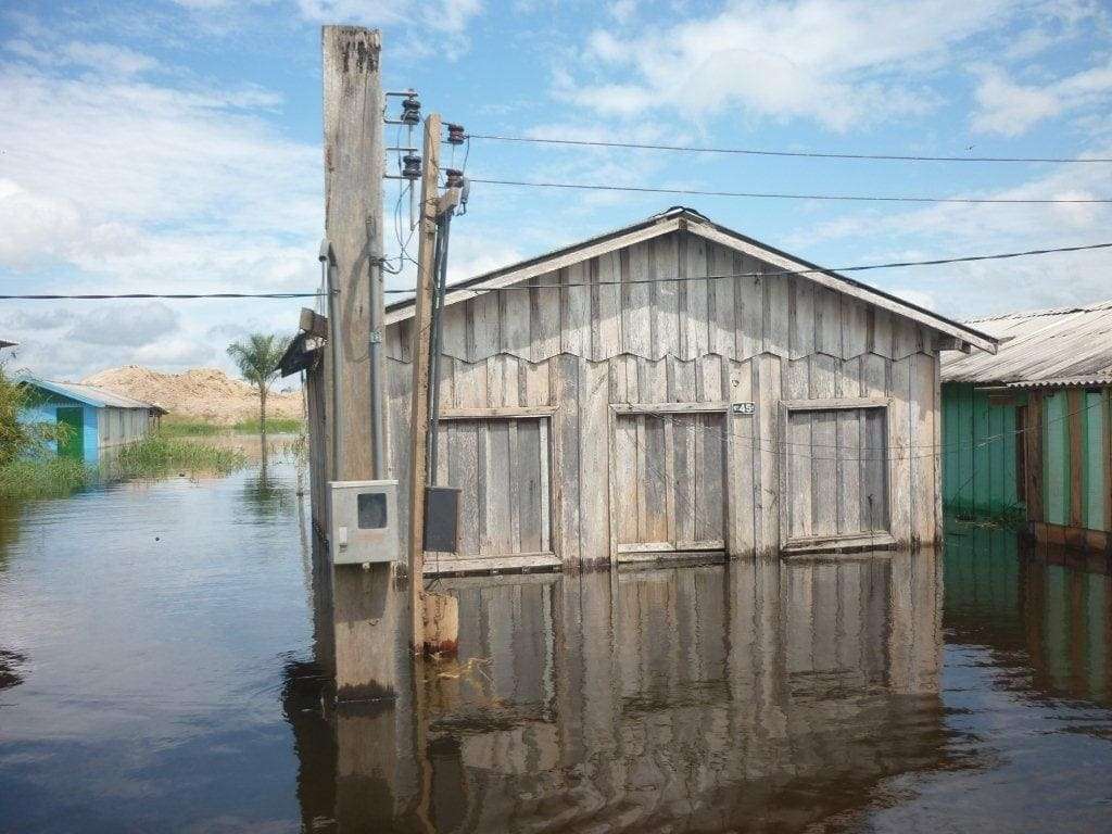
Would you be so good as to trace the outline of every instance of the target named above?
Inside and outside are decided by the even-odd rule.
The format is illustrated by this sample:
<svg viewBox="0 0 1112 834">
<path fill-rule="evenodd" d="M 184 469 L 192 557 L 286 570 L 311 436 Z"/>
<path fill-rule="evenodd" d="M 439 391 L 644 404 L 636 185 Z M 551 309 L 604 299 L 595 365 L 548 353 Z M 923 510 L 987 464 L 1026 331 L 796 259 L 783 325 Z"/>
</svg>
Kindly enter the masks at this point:
<svg viewBox="0 0 1112 834">
<path fill-rule="evenodd" d="M 383 250 L 381 36 L 377 30 L 326 26 L 321 32 L 325 115 L 325 235 L 338 295 L 329 339 L 339 350 L 326 359 L 326 390 L 335 391 L 326 424 L 342 439 L 328 471 L 339 480 L 367 480 L 385 470 L 376 460 L 371 415 L 371 280 Z M 375 294 L 381 305 L 381 294 Z M 379 325 L 380 326 L 380 325 Z M 381 384 L 381 376 L 375 377 Z M 334 385 L 335 384 L 335 385 Z M 331 397 L 328 398 L 331 400 Z M 379 400 L 380 401 L 380 400 Z M 335 414 L 338 411 L 338 414 Z M 374 417 L 378 418 L 378 415 Z M 393 698 L 408 665 L 406 604 L 389 563 L 332 565 L 332 626 L 337 697 Z"/>
</svg>

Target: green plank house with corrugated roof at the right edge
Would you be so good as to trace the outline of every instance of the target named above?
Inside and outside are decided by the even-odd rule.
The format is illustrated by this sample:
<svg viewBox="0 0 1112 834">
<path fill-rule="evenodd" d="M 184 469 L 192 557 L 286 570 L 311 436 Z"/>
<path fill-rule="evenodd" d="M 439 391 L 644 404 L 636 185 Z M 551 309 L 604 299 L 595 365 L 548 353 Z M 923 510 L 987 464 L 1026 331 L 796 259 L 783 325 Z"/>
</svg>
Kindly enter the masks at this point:
<svg viewBox="0 0 1112 834">
<path fill-rule="evenodd" d="M 1112 301 L 972 322 L 995 356 L 942 366 L 944 497 L 1040 540 L 1112 547 Z"/>
</svg>

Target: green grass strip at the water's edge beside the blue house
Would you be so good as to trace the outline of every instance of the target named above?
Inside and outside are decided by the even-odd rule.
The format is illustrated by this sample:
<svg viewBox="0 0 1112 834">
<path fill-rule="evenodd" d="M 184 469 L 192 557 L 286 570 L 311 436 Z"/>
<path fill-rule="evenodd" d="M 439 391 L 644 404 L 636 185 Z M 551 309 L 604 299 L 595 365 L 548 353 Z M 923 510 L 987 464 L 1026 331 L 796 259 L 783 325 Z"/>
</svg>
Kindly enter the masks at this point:
<svg viewBox="0 0 1112 834">
<path fill-rule="evenodd" d="M 101 480 L 153 478 L 187 471 L 227 475 L 247 465 L 239 449 L 155 436 L 123 446 L 101 467 L 58 457 L 36 457 L 0 466 L 0 498 L 57 498 Z"/>
</svg>

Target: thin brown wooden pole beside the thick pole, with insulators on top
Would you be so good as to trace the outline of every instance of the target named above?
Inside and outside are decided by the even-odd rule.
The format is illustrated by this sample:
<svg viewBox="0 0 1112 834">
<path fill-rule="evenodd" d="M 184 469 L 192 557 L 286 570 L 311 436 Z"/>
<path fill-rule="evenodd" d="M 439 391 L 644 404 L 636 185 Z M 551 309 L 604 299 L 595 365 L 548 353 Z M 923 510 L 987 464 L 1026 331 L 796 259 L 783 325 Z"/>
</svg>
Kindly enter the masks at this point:
<svg viewBox="0 0 1112 834">
<path fill-rule="evenodd" d="M 425 119 L 421 153 L 420 221 L 417 239 L 417 296 L 414 299 L 413 406 L 409 411 L 409 577 L 413 612 L 413 648 L 425 647 L 425 485 L 428 454 L 429 327 L 436 285 L 436 218 L 439 211 L 440 117 Z"/>
</svg>

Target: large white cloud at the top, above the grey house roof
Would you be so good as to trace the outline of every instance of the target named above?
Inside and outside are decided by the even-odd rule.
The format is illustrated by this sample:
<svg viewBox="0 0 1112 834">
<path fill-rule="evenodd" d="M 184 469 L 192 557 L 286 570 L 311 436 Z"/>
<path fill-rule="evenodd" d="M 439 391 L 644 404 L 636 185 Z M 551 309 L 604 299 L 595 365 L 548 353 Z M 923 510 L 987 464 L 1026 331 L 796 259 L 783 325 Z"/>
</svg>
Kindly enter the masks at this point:
<svg viewBox="0 0 1112 834">
<path fill-rule="evenodd" d="M 741 0 L 629 38 L 593 32 L 583 63 L 594 79 L 556 91 L 604 113 L 739 107 L 846 130 L 932 108 L 920 79 L 1007 13 L 1005 0 Z"/>
</svg>

